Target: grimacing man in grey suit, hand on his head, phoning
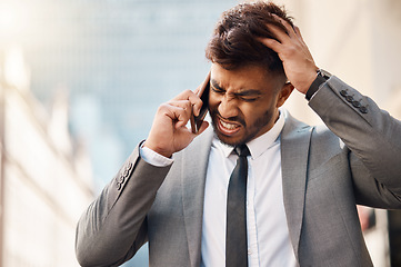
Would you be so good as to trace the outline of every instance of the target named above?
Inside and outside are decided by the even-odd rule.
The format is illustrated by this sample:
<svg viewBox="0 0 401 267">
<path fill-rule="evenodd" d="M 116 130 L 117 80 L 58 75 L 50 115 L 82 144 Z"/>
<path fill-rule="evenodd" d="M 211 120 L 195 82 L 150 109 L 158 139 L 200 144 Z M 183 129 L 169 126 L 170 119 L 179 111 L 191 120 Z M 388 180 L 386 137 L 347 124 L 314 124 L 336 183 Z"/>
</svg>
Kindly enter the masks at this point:
<svg viewBox="0 0 401 267">
<path fill-rule="evenodd" d="M 207 57 L 213 130 L 186 127 L 202 106 L 192 91 L 161 105 L 80 219 L 80 264 L 117 266 L 149 241 L 150 266 L 371 266 L 355 205 L 401 208 L 401 122 L 319 70 L 272 3 L 224 12 Z M 330 130 L 280 109 L 294 88 Z"/>
</svg>

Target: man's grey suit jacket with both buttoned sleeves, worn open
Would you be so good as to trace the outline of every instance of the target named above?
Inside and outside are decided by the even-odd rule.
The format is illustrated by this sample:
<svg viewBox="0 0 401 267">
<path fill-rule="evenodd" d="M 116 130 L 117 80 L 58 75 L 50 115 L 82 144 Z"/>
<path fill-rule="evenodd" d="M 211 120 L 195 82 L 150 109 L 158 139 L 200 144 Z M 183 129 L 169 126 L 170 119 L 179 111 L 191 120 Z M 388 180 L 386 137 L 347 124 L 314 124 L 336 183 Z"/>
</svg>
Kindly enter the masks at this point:
<svg viewBox="0 0 401 267">
<path fill-rule="evenodd" d="M 281 132 L 294 255 L 300 266 L 371 266 L 355 204 L 401 208 L 401 123 L 335 77 L 309 105 L 329 129 L 289 116 Z M 202 134 L 166 168 L 136 148 L 79 221 L 80 264 L 117 266 L 149 240 L 150 266 L 199 266 L 211 139 Z"/>
</svg>

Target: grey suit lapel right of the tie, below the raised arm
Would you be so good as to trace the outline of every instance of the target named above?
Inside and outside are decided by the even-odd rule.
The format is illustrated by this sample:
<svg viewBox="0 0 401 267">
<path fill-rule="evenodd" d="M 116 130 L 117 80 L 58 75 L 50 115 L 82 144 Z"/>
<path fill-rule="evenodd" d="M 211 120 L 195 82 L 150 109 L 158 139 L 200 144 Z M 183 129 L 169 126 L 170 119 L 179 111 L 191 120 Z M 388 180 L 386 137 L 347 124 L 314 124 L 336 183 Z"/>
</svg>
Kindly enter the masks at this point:
<svg viewBox="0 0 401 267">
<path fill-rule="evenodd" d="M 312 127 L 287 115 L 281 134 L 282 187 L 291 243 L 298 258 Z"/>
</svg>

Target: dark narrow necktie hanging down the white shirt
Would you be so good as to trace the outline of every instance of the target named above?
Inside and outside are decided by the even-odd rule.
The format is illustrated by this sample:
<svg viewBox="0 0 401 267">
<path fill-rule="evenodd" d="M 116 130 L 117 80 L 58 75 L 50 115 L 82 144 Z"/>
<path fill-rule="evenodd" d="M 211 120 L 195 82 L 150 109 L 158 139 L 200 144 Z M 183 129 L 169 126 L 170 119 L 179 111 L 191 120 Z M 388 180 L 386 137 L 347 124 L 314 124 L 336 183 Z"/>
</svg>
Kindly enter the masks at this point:
<svg viewBox="0 0 401 267">
<path fill-rule="evenodd" d="M 247 267 L 247 156 L 250 152 L 245 145 L 235 147 L 235 152 L 239 157 L 227 196 L 225 267 Z"/>
</svg>

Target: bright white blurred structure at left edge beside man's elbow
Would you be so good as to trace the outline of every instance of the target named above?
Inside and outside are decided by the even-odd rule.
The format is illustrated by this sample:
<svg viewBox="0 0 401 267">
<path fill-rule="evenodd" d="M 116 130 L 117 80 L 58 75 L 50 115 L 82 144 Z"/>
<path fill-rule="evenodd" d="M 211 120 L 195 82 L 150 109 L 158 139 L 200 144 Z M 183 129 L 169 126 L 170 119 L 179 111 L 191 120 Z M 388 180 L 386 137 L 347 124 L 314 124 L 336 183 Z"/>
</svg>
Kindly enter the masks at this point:
<svg viewBox="0 0 401 267">
<path fill-rule="evenodd" d="M 90 159 L 68 131 L 68 98 L 51 112 L 29 90 L 20 49 L 0 49 L 0 266 L 71 267 L 74 230 L 93 198 Z"/>
</svg>

